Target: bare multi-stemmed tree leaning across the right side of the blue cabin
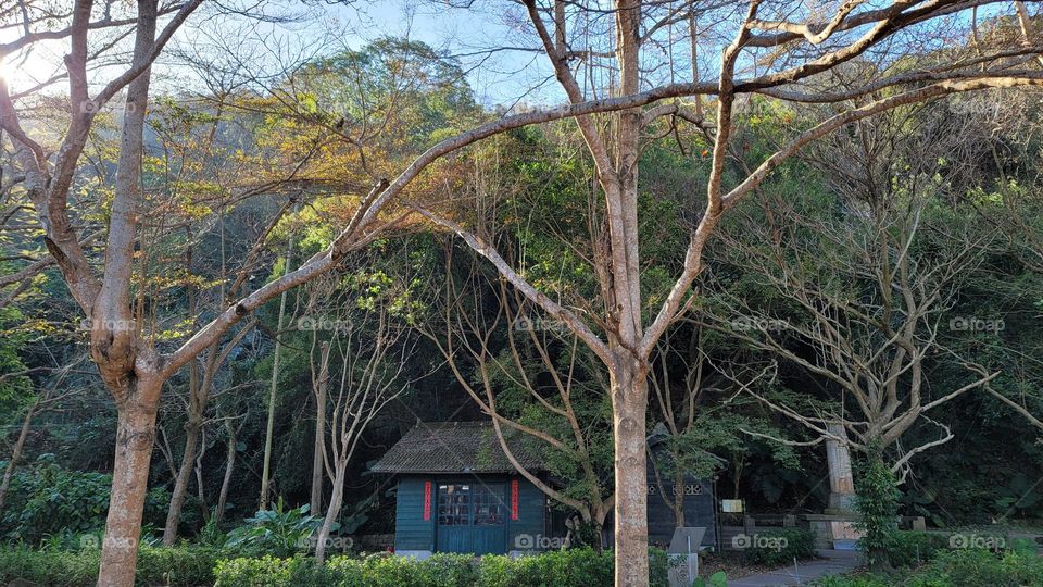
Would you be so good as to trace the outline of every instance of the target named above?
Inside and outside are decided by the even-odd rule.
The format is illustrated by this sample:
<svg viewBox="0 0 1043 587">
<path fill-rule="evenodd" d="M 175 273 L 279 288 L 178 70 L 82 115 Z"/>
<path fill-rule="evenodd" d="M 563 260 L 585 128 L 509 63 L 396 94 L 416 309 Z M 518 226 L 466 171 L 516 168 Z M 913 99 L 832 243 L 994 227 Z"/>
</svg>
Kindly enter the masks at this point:
<svg viewBox="0 0 1043 587">
<path fill-rule="evenodd" d="M 492 420 L 497 440 L 517 472 L 549 498 L 574 509 L 596 535 L 612 511 L 613 494 L 600 452 L 599 437 L 606 433 L 593 417 L 601 401 L 604 375 L 596 361 L 583 355 L 579 341 L 561 324 L 543 322 L 528 313 L 526 300 L 501 280 L 489 283 L 469 260 L 470 271 L 454 275 L 452 247 L 445 252 L 445 285 L 440 315 L 420 325 L 437 347 L 456 382 Z M 491 290 L 491 291 L 490 291 Z M 506 339 L 503 348 L 493 340 Z M 472 372 L 473 370 L 473 372 Z M 474 375 L 477 375 L 478 383 Z M 548 378 L 550 385 L 540 385 Z M 586 382 L 593 382 L 590 385 Z M 505 388 L 510 388 L 505 390 Z M 510 394 L 514 391 L 514 395 Z M 505 400 L 513 397 L 513 400 Z M 500 408 L 501 402 L 531 403 L 524 413 Z M 516 451 L 551 454 L 550 463 L 564 460 L 556 486 L 530 471 Z M 578 488 L 578 489 L 577 489 Z"/>
</svg>

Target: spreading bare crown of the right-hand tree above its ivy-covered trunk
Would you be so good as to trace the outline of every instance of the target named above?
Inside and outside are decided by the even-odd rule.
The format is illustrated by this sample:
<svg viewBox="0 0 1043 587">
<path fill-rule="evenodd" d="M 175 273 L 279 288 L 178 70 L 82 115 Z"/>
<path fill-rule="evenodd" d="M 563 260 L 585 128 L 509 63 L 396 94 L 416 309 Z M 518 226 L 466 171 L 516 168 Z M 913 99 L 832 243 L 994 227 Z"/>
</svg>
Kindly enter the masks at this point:
<svg viewBox="0 0 1043 587">
<path fill-rule="evenodd" d="M 964 360 L 966 385 L 941 392 L 931 391 L 927 375 L 930 359 L 946 352 L 939 329 L 950 326 L 956 285 L 994 237 L 966 226 L 946 234 L 925 217 L 931 214 L 927 197 L 881 196 L 871 203 L 842 199 L 847 209 L 832 220 L 766 198 L 763 213 L 721 234 L 721 263 L 755 275 L 786 302 L 757 307 L 714 279 L 716 311 L 696 320 L 799 365 L 834 402 L 808 411 L 747 388 L 766 405 L 820 439 L 867 453 L 895 448 L 891 465 L 907 473 L 914 455 L 953 438 L 929 412 L 997 375 Z M 927 233 L 942 236 L 928 246 Z M 938 426 L 939 438 L 904 447 L 902 436 L 922 421 Z M 829 430 L 834 423 L 846 439 Z"/>
</svg>

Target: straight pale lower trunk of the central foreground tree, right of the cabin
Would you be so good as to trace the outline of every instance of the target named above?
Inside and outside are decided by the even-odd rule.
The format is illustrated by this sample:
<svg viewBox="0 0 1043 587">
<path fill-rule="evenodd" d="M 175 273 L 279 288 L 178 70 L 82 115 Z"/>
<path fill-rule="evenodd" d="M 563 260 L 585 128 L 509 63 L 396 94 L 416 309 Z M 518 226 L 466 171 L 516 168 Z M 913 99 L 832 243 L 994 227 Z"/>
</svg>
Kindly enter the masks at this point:
<svg viewBox="0 0 1043 587">
<path fill-rule="evenodd" d="M 632 357 L 612 370 L 613 429 L 616 459 L 616 587 L 649 583 L 645 372 Z"/>
</svg>

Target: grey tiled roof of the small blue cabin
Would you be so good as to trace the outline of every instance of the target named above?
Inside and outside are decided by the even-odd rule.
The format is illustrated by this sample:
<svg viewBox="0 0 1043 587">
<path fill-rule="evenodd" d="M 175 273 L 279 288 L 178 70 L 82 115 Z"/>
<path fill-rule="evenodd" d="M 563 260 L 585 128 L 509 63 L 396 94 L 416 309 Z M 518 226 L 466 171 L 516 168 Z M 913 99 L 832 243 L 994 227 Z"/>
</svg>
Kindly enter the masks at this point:
<svg viewBox="0 0 1043 587">
<path fill-rule="evenodd" d="M 511 434 L 511 452 L 530 472 L 546 464 L 527 438 Z M 375 473 L 515 473 L 500 448 L 492 422 L 417 422 L 401 440 L 370 467 Z"/>
</svg>

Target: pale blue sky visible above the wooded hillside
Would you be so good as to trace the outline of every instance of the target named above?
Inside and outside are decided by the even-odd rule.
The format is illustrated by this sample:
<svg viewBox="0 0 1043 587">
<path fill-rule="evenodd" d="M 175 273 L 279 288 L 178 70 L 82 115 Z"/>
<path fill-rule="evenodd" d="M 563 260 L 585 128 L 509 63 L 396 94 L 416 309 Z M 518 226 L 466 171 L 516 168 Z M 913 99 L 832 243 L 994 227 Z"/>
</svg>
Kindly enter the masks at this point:
<svg viewBox="0 0 1043 587">
<path fill-rule="evenodd" d="M 234 7 L 236 2 L 240 8 L 249 7 L 251 12 L 269 17 L 268 21 L 229 17 L 219 12 L 218 7 Z M 468 5 L 454 9 L 449 5 L 452 2 Z M 874 3 L 875 0 L 869 1 Z M 223 83 L 226 84 L 248 74 L 271 82 L 285 75 L 288 63 L 300 63 L 309 57 L 341 49 L 357 49 L 367 41 L 391 35 L 422 40 L 457 55 L 477 100 L 487 107 L 561 103 L 564 97 L 545 57 L 526 50 L 483 51 L 492 47 L 535 49 L 538 46 L 538 39 L 519 24 L 526 21 L 520 10 L 517 3 L 506 0 L 204 2 L 153 67 L 153 85 L 161 91 L 175 93 L 205 91 L 202 78 L 186 66 L 187 60 L 212 62 L 216 71 L 225 72 Z M 1002 2 L 983 12 L 1013 13 L 1013 10 L 1009 3 Z M 275 17 L 284 21 L 271 22 Z M 16 34 L 0 29 L 0 43 Z M 124 47 L 128 47 L 130 40 L 125 39 Z M 30 53 L 13 55 L 0 63 L 0 73 L 9 80 L 12 91 L 17 92 L 61 71 L 61 59 L 66 52 L 67 41 L 40 42 Z M 646 52 L 656 59 L 654 47 Z M 126 58 L 126 54 L 117 55 L 120 63 L 99 66 L 90 74 L 92 79 L 98 84 L 114 77 L 125 70 Z M 705 71 L 712 68 L 713 64 Z M 61 83 L 51 91 L 61 92 L 65 87 Z"/>
</svg>

